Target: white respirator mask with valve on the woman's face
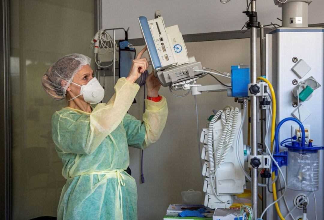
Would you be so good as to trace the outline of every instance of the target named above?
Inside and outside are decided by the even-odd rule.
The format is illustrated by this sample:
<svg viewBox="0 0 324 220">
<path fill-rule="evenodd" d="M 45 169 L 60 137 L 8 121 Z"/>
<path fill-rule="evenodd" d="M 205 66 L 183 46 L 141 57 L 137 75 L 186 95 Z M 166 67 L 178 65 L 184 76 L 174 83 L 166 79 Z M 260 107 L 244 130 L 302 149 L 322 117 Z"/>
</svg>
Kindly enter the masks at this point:
<svg viewBox="0 0 324 220">
<path fill-rule="evenodd" d="M 76 86 L 80 86 L 79 84 L 76 84 L 74 82 L 71 83 L 73 83 Z M 74 100 L 75 98 L 83 95 L 83 99 L 86 102 L 90 104 L 97 104 L 102 101 L 105 95 L 105 90 L 102 88 L 96 77 L 92 78 L 86 85 L 82 85 L 80 87 L 80 94 L 70 99 L 69 101 Z"/>
</svg>

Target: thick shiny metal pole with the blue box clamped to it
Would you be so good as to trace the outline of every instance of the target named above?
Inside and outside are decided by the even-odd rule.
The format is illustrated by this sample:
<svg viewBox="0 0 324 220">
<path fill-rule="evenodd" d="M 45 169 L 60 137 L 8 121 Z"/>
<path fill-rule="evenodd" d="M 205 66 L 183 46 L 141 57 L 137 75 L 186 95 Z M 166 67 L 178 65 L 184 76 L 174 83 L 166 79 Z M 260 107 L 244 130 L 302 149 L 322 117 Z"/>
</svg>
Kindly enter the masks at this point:
<svg viewBox="0 0 324 220">
<path fill-rule="evenodd" d="M 256 1 L 251 0 L 251 11 L 255 11 Z M 251 27 L 251 83 L 257 81 L 257 28 Z M 257 97 L 251 96 L 251 154 L 257 155 Z M 252 211 L 253 218 L 256 219 L 258 215 L 258 169 L 251 168 L 251 192 L 252 192 Z"/>
</svg>

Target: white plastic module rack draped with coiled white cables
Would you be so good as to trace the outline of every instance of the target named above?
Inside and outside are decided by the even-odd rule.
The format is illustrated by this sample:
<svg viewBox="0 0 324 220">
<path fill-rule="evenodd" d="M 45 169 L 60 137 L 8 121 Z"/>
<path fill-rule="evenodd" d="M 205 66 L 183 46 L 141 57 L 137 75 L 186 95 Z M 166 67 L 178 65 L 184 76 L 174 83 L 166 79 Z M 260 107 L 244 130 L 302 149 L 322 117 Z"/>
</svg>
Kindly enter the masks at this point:
<svg viewBox="0 0 324 220">
<path fill-rule="evenodd" d="M 207 134 L 208 129 L 204 128 L 201 133 L 200 141 L 204 143 L 203 150 L 202 150 L 202 159 L 205 160 L 203 165 L 203 176 L 204 179 L 204 186 L 203 192 L 205 193 L 205 200 L 204 205 L 209 208 L 229 208 L 230 205 L 233 203 L 233 195 L 234 194 L 241 194 L 245 188 L 245 176 L 242 172 L 239 162 L 237 161 L 236 157 L 236 149 L 235 144 L 237 141 L 237 134 L 238 129 L 241 124 L 242 118 L 241 113 L 238 113 L 237 116 L 237 131 L 233 141 L 233 144 L 224 160 L 223 163 L 219 165 L 215 173 L 215 180 L 214 180 L 214 187 L 217 196 L 222 200 L 226 201 L 224 203 L 220 201 L 217 196 L 214 195 L 214 190 L 211 183 L 211 173 L 209 171 L 209 157 L 208 157 L 208 147 L 207 147 Z M 223 126 L 221 120 L 217 120 L 214 123 L 213 127 L 213 148 L 215 149 L 218 146 L 220 141 L 220 136 L 223 132 Z M 224 147 L 225 148 L 225 147 Z M 222 153 L 224 151 L 222 150 Z M 244 155 L 243 155 L 243 135 L 241 133 L 238 142 L 238 152 L 240 156 L 240 160 L 242 165 L 244 166 Z M 215 157 L 214 157 L 215 158 Z"/>
</svg>

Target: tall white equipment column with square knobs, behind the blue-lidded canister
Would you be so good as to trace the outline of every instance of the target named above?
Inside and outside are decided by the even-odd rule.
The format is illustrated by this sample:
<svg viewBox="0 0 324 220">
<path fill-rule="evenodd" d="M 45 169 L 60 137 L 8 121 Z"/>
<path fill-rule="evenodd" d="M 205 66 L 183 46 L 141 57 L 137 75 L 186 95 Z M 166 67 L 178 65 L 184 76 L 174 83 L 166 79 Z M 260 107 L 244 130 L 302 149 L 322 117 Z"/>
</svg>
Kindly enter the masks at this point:
<svg viewBox="0 0 324 220">
<path fill-rule="evenodd" d="M 310 77 L 316 79 L 320 85 L 324 85 L 324 29 L 318 27 L 292 28 L 282 27 L 266 35 L 266 73 L 267 78 L 272 82 L 276 91 L 277 98 L 277 121 L 287 117 L 298 118 L 297 108 L 293 106 L 297 102 L 292 91 L 298 85 L 293 84 L 293 80 L 304 81 Z M 298 61 L 303 60 L 310 67 L 302 71 L 303 74 L 296 74 L 293 67 Z M 308 71 L 309 70 L 309 71 Z M 308 72 L 307 72 L 308 71 Z M 302 76 L 302 78 L 300 78 Z M 323 138 L 323 86 L 314 90 L 312 96 L 300 101 L 301 122 L 308 125 L 308 136 L 314 139 L 314 144 L 324 146 Z M 296 103 L 295 103 L 296 104 Z M 293 114 L 297 112 L 297 114 Z M 279 140 L 295 135 L 296 123 L 286 122 L 280 129 Z M 312 134 L 310 134 L 310 131 Z M 287 150 L 281 147 L 281 151 Z M 323 159 L 322 152 L 320 158 Z M 288 161 L 289 162 L 289 161 Z M 320 167 L 323 167 L 323 160 L 320 160 Z M 283 167 L 283 170 L 285 167 Z M 288 170 L 286 172 L 289 172 Z M 323 183 L 323 169 L 320 169 L 320 183 Z M 296 191 L 287 189 L 285 193 L 289 207 L 293 207 Z M 307 194 L 307 192 L 304 192 Z M 323 187 L 316 192 L 317 203 L 323 204 Z M 271 198 L 269 198 L 271 201 Z M 284 207 L 283 201 L 279 201 L 279 206 Z M 282 214 L 287 214 L 286 210 L 281 209 Z M 323 216 L 323 209 L 317 210 L 319 216 Z M 293 215 L 300 215 L 300 210 L 295 209 Z M 273 216 L 275 213 L 273 214 Z M 273 219 L 268 215 L 268 219 Z M 315 219 L 314 205 L 307 206 L 307 218 Z"/>
</svg>

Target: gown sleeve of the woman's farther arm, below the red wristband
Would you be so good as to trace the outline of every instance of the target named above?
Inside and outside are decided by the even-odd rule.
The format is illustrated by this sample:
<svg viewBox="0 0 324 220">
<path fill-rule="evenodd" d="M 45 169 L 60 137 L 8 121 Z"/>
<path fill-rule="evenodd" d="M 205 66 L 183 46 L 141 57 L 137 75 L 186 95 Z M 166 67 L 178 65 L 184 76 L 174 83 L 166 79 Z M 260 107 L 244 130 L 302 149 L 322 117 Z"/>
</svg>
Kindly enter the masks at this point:
<svg viewBox="0 0 324 220">
<path fill-rule="evenodd" d="M 137 120 L 129 114 L 124 117 L 123 127 L 130 147 L 147 148 L 160 138 L 165 127 L 168 117 L 166 98 L 162 97 L 159 102 L 145 100 L 145 107 L 143 121 Z"/>
</svg>

